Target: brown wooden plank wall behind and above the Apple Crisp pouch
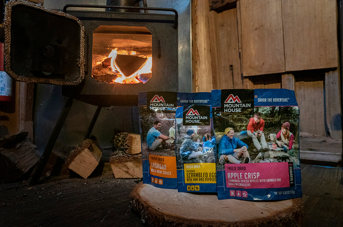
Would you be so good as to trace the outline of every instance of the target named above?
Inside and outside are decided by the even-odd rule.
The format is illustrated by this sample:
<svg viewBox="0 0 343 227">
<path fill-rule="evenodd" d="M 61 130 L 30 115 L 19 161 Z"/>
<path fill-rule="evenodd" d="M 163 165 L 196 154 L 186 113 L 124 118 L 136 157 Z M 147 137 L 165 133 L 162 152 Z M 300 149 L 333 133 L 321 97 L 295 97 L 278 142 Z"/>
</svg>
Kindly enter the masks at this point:
<svg viewBox="0 0 343 227">
<path fill-rule="evenodd" d="M 218 12 L 212 2 L 192 1 L 193 92 L 292 89 L 300 132 L 341 143 L 337 2 L 238 0 Z"/>
</svg>

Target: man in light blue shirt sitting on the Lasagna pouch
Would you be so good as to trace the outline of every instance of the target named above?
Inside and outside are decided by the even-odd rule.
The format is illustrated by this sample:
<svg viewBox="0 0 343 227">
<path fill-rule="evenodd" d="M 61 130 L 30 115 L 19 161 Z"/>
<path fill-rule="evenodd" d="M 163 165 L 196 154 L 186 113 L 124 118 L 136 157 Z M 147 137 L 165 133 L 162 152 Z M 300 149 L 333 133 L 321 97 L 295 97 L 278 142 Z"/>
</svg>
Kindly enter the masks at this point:
<svg viewBox="0 0 343 227">
<path fill-rule="evenodd" d="M 169 136 L 163 135 L 158 130 L 161 129 L 161 122 L 155 121 L 154 126 L 148 131 L 146 135 L 146 144 L 150 151 L 155 151 L 157 147 L 166 145 L 166 140 L 169 140 Z"/>
</svg>

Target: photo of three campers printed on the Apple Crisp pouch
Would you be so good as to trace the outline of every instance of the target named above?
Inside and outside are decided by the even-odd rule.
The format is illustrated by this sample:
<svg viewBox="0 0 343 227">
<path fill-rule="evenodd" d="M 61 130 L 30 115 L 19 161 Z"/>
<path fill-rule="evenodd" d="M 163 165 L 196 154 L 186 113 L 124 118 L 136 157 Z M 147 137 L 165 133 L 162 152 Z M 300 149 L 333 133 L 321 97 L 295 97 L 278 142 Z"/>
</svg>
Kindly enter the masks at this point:
<svg viewBox="0 0 343 227">
<path fill-rule="evenodd" d="M 255 107 L 251 113 L 214 115 L 216 163 L 299 164 L 298 107 Z"/>
</svg>

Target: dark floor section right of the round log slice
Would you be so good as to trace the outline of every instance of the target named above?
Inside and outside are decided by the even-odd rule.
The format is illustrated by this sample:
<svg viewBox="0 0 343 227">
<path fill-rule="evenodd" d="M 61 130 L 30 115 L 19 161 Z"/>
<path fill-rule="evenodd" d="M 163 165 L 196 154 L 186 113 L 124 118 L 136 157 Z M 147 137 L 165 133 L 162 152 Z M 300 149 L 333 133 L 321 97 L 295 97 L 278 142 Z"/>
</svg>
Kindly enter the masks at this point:
<svg viewBox="0 0 343 227">
<path fill-rule="evenodd" d="M 301 164 L 302 226 L 343 226 L 343 172 L 338 167 Z"/>
</svg>

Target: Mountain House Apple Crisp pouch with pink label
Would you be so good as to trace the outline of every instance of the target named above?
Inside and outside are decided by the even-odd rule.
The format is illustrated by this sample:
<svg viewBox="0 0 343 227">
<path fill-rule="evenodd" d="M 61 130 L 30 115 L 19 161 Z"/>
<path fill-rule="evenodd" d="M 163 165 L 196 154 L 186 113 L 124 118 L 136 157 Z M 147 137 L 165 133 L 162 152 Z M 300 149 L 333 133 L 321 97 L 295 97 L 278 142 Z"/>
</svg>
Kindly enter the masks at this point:
<svg viewBox="0 0 343 227">
<path fill-rule="evenodd" d="M 212 90 L 218 199 L 302 196 L 299 108 L 288 89 Z"/>
</svg>

